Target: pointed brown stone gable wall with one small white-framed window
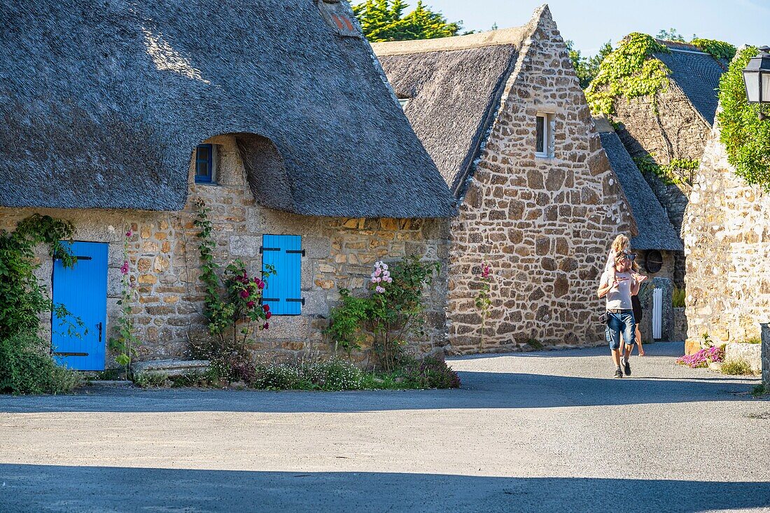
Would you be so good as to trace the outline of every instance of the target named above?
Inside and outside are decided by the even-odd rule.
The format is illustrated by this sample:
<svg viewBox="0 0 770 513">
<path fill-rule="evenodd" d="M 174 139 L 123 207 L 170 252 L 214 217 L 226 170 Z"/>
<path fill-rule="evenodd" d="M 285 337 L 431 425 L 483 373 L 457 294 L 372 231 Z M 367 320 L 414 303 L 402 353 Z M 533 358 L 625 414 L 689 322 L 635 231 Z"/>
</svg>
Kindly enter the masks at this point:
<svg viewBox="0 0 770 513">
<path fill-rule="evenodd" d="M 550 15 L 524 44 L 497 119 L 451 226 L 450 343 L 455 353 L 598 344 L 596 296 L 611 241 L 631 229 Z M 535 116 L 554 117 L 554 157 L 534 156 Z M 481 337 L 474 307 L 489 262 L 493 307 Z"/>
</svg>

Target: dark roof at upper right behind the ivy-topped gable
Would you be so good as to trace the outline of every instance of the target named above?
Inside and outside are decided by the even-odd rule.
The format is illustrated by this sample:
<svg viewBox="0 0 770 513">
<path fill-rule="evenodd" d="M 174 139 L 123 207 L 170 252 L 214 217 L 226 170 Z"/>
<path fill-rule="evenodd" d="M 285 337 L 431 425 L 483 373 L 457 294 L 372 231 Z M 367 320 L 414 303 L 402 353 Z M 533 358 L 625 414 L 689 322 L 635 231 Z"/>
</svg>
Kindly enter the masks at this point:
<svg viewBox="0 0 770 513">
<path fill-rule="evenodd" d="M 663 41 L 671 53 L 658 52 L 655 57 L 671 69 L 670 78 L 685 93 L 708 124 L 714 124 L 719 100 L 719 78 L 727 71 L 729 62 L 715 59 L 689 43 Z"/>
</svg>

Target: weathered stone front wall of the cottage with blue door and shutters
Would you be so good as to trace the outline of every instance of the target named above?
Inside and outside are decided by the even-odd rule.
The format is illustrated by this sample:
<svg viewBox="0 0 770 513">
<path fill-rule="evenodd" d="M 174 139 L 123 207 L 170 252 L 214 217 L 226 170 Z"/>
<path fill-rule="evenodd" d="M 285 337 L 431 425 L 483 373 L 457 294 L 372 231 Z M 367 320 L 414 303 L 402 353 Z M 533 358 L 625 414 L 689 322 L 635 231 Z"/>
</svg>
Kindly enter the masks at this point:
<svg viewBox="0 0 770 513">
<path fill-rule="evenodd" d="M 333 349 L 321 334 L 326 316 L 339 299 L 340 287 L 363 293 L 376 260 L 396 260 L 417 254 L 443 262 L 440 277 L 428 291 L 427 338 L 419 350 L 428 354 L 446 345 L 447 220 L 340 219 L 298 216 L 256 206 L 246 184 L 243 163 L 231 136 L 206 142 L 217 145 L 215 185 L 193 184 L 181 212 L 136 210 L 0 209 L 0 228 L 13 229 L 34 212 L 72 220 L 75 240 L 109 243 L 108 327 L 119 316 L 120 266 L 126 228 L 131 279 L 139 292 L 133 304 L 140 359 L 189 357 L 189 340 L 205 337 L 203 288 L 199 281 L 198 230 L 193 225 L 196 200 L 211 212 L 220 264 L 239 258 L 250 273 L 262 267 L 259 246 L 264 233 L 303 236 L 301 288 L 306 303 L 300 316 L 274 316 L 269 330 L 253 344 L 256 351 L 299 354 L 328 353 Z M 194 182 L 190 167 L 190 183 Z M 39 249 L 39 279 L 50 290 L 52 262 Z M 363 358 L 363 353 L 357 355 Z"/>
</svg>

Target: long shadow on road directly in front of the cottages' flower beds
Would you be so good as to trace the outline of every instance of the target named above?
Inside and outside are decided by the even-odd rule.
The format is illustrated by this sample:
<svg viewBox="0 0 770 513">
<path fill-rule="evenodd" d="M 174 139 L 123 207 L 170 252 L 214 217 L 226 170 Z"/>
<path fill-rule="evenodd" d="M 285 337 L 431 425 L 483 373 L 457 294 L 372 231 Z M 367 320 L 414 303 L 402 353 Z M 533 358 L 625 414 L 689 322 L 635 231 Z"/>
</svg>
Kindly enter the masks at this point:
<svg viewBox="0 0 770 513">
<path fill-rule="evenodd" d="M 548 374 L 460 372 L 463 388 L 438 391 L 268 392 L 102 389 L 89 394 L 0 397 L 0 412 L 62 411 L 346 413 L 360 411 L 534 408 L 698 401 L 751 401 L 742 378 L 614 380 Z"/>
</svg>

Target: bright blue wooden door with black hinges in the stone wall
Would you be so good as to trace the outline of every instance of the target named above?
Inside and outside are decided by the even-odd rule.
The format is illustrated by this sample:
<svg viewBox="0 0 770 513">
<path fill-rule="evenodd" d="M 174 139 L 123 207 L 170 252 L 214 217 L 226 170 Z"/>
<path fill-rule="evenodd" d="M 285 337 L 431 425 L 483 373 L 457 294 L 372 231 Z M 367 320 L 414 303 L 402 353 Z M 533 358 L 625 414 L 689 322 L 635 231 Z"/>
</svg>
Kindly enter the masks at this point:
<svg viewBox="0 0 770 513">
<path fill-rule="evenodd" d="M 87 332 L 82 334 L 81 328 L 79 337 L 70 334 L 62 320 L 53 316 L 52 351 L 56 363 L 76 371 L 104 371 L 107 248 L 106 243 L 72 243 L 70 250 L 78 257 L 75 266 L 65 268 L 59 259 L 53 263 L 53 302 L 79 317 Z"/>
</svg>

